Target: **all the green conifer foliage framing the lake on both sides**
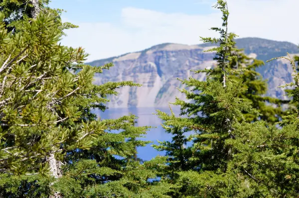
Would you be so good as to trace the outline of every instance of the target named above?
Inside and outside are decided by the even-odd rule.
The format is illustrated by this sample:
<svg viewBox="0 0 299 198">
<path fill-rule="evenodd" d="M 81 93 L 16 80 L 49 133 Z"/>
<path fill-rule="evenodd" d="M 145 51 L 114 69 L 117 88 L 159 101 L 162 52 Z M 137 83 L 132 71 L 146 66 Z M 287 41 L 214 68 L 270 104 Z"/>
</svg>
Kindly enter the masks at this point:
<svg viewBox="0 0 299 198">
<path fill-rule="evenodd" d="M 62 23 L 61 10 L 48 2 L 39 0 L 44 13 L 35 20 L 31 1 L 0 1 L 0 197 L 298 197 L 295 61 L 279 57 L 294 70 L 294 82 L 286 85 L 294 87 L 288 91 L 290 111 L 283 116 L 284 101 L 264 96 L 267 84 L 255 70 L 263 62 L 237 49 L 236 35 L 227 31 L 225 0 L 215 5 L 222 27 L 211 28 L 220 37 L 201 37 L 219 43 L 208 50 L 216 51 L 217 66 L 195 71 L 206 73 L 206 81 L 180 80 L 190 88 L 180 91 L 191 102 L 176 98 L 179 117 L 171 108 L 170 115 L 156 112 L 172 140 L 153 146 L 165 157 L 144 163 L 136 148 L 149 143 L 139 138 L 150 127 L 135 126 L 134 115 L 97 120 L 92 113 L 105 111 L 118 88 L 141 85 L 94 85 L 94 74 L 112 63 L 85 65 L 81 47 L 58 44 L 62 30 L 74 26 Z M 57 177 L 53 159 L 61 171 Z"/>
</svg>

